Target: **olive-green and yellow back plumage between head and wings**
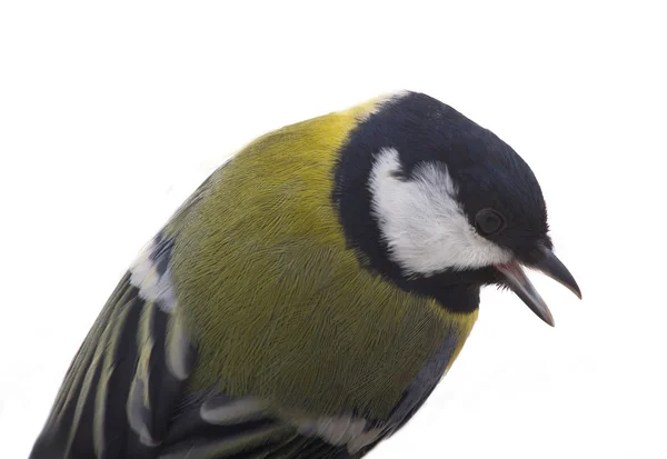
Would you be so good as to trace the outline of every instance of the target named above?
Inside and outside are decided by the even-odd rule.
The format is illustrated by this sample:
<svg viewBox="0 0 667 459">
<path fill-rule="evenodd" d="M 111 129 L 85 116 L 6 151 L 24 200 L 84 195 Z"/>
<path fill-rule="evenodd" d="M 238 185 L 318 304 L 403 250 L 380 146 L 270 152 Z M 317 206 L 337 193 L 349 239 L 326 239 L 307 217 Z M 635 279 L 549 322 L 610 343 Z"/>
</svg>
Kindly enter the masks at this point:
<svg viewBox="0 0 667 459">
<path fill-rule="evenodd" d="M 355 408 L 382 419 L 448 335 L 464 343 L 476 313 L 401 291 L 359 269 L 346 247 L 332 169 L 362 114 L 332 113 L 258 139 L 170 228 L 177 310 L 202 362 L 193 389 L 216 385 L 305 412 Z"/>
</svg>

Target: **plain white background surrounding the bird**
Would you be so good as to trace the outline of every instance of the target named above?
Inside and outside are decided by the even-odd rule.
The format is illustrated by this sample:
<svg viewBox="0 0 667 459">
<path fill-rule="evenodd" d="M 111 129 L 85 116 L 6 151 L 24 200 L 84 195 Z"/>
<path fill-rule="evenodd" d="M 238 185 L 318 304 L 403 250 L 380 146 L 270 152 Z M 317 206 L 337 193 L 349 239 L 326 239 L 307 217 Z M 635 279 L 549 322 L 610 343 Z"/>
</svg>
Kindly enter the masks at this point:
<svg viewBox="0 0 667 459">
<path fill-rule="evenodd" d="M 3 1 L 0 457 L 27 457 L 107 296 L 212 168 L 406 88 L 528 161 L 584 301 L 532 276 L 551 329 L 485 291 L 450 373 L 371 457 L 667 458 L 667 16 L 537 3 Z"/>
</svg>

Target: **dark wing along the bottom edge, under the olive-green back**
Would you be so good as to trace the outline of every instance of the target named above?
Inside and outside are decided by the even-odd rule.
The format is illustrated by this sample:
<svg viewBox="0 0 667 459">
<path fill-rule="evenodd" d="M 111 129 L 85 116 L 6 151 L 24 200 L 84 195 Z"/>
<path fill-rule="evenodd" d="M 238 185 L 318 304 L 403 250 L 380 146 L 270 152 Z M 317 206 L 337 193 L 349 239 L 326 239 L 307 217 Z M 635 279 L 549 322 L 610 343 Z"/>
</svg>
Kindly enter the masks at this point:
<svg viewBox="0 0 667 459">
<path fill-rule="evenodd" d="M 459 341 L 442 341 L 386 420 L 355 413 L 293 417 L 251 397 L 203 395 L 173 419 L 163 459 L 359 459 L 415 415 L 452 361 Z M 271 415 L 272 413 L 272 415 Z"/>
</svg>

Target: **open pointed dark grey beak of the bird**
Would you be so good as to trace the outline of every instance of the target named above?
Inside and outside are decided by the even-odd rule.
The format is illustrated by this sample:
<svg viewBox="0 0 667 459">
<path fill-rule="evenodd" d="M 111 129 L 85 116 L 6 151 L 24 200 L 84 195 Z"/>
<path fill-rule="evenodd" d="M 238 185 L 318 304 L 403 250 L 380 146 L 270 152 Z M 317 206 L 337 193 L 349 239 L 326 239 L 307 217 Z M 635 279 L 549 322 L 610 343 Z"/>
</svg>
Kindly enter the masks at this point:
<svg viewBox="0 0 667 459">
<path fill-rule="evenodd" d="M 542 249 L 541 259 L 530 268 L 535 268 L 549 276 L 567 287 L 573 293 L 581 299 L 581 290 L 577 281 L 567 270 L 565 265 L 549 249 Z M 554 317 L 547 308 L 547 303 L 539 296 L 532 283 L 528 280 L 524 268 L 517 260 L 505 265 L 496 266 L 496 269 L 502 275 L 505 283 L 539 317 L 541 320 L 554 327 Z"/>
</svg>

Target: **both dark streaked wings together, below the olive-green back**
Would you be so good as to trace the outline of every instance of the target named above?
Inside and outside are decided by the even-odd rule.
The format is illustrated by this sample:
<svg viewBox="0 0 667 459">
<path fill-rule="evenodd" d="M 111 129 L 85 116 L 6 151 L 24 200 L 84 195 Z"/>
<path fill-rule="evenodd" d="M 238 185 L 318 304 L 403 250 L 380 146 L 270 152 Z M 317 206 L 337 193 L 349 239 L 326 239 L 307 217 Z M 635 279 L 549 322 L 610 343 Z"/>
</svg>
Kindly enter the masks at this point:
<svg viewBox="0 0 667 459">
<path fill-rule="evenodd" d="M 352 459 L 409 420 L 458 345 L 451 336 L 386 420 L 293 417 L 253 398 L 187 391 L 196 349 L 173 313 L 172 239 L 123 277 L 67 372 L 31 459 Z"/>
</svg>

